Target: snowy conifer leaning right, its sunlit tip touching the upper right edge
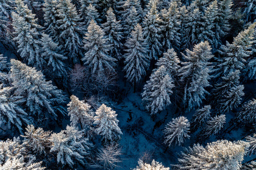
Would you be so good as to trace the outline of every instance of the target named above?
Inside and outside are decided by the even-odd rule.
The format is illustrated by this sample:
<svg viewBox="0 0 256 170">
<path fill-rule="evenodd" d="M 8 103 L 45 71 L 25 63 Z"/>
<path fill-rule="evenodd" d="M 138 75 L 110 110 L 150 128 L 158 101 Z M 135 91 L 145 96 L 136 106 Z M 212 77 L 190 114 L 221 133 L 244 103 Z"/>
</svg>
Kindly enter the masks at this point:
<svg viewBox="0 0 256 170">
<path fill-rule="evenodd" d="M 250 47 L 253 44 L 255 24 L 251 24 L 249 28 L 240 32 L 232 44 L 226 42 L 226 45 L 221 45 L 219 52 L 223 57 L 218 59 L 216 77 L 244 68 L 246 58 L 251 53 Z"/>
</svg>

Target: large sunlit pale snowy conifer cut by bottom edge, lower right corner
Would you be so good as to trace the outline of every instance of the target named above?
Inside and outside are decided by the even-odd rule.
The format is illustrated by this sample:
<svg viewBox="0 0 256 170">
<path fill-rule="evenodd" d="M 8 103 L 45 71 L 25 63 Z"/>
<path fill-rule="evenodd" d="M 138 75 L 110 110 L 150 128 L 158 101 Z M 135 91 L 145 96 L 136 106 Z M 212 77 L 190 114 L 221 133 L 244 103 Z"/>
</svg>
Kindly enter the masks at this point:
<svg viewBox="0 0 256 170">
<path fill-rule="evenodd" d="M 232 169 L 239 170 L 246 155 L 247 142 L 221 140 L 208 143 L 204 148 L 197 144 L 181 154 L 174 169 Z"/>
</svg>

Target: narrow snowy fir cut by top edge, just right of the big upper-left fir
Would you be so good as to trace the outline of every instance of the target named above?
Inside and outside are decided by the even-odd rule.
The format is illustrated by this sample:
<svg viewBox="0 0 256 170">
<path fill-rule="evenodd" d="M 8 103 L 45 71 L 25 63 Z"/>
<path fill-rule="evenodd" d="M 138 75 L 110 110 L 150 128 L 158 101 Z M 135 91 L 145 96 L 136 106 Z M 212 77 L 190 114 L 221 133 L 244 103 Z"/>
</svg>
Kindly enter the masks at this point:
<svg viewBox="0 0 256 170">
<path fill-rule="evenodd" d="M 57 0 L 45 0 L 44 1 L 44 27 L 46 27 L 46 33 L 52 37 L 53 41 L 60 42 L 60 31 L 58 13 L 58 1 Z"/>
</svg>

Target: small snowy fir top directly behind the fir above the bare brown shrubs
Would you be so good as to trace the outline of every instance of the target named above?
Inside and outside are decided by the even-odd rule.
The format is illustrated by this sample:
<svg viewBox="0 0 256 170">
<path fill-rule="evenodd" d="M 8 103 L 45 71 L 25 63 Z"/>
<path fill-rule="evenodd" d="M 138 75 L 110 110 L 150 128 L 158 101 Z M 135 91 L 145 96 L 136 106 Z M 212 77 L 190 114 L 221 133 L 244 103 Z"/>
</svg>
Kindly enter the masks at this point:
<svg viewBox="0 0 256 170">
<path fill-rule="evenodd" d="M 86 7 L 84 15 L 82 15 L 82 19 L 84 20 L 84 27 L 88 27 L 91 20 L 94 20 L 98 24 L 100 24 L 101 19 L 99 19 L 100 14 L 98 14 L 98 11 L 96 8 L 92 5 L 92 3 L 89 4 L 88 7 Z"/>
</svg>

